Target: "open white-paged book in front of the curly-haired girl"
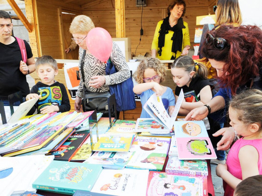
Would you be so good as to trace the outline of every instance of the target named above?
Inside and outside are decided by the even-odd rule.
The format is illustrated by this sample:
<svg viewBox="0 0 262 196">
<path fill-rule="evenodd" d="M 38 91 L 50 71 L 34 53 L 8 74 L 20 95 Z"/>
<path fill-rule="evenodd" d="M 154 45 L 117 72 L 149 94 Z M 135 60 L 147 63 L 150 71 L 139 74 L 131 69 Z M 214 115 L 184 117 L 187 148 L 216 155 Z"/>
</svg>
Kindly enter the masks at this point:
<svg viewBox="0 0 262 196">
<path fill-rule="evenodd" d="M 162 103 L 161 96 L 152 94 L 146 102 L 144 109 L 152 117 L 148 119 L 138 119 L 136 132 L 170 132 L 176 120 L 178 111 L 184 99 L 184 93 L 181 89 L 178 96 L 175 109 L 170 117 Z"/>
</svg>

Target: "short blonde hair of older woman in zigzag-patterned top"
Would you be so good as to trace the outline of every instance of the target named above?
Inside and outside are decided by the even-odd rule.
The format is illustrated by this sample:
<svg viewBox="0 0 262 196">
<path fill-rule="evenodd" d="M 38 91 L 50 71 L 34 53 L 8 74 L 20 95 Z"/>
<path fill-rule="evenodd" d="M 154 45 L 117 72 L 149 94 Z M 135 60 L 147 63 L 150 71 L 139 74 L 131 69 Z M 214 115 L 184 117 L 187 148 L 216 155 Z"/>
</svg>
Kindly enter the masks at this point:
<svg viewBox="0 0 262 196">
<path fill-rule="evenodd" d="M 87 34 L 91 29 L 94 29 L 93 21 L 85 15 L 76 16 L 69 28 L 71 34 Z"/>
</svg>

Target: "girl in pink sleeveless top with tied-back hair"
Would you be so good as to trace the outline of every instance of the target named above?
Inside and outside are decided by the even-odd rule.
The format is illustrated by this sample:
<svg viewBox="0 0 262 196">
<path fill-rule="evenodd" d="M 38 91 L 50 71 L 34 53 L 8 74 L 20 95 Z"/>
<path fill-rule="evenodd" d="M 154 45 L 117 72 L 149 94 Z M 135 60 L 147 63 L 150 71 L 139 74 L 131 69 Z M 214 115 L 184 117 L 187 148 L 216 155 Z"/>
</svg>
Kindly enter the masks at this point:
<svg viewBox="0 0 262 196">
<path fill-rule="evenodd" d="M 262 91 L 251 89 L 237 94 L 229 106 L 230 125 L 242 136 L 231 147 L 226 164 L 216 173 L 223 178 L 224 195 L 234 194 L 243 179 L 262 174 Z"/>
</svg>

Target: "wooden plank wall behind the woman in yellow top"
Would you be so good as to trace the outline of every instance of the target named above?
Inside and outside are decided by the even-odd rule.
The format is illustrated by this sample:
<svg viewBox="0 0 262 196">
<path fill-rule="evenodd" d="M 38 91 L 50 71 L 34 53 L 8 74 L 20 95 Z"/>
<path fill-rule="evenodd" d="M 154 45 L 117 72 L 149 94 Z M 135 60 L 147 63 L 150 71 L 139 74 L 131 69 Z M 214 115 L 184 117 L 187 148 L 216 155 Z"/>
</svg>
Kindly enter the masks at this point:
<svg viewBox="0 0 262 196">
<path fill-rule="evenodd" d="M 158 21 L 167 16 L 166 10 L 170 1 L 150 0 L 147 1 L 147 7 L 143 8 L 142 27 L 144 35 L 141 37 L 141 15 L 142 7 L 136 7 L 136 0 L 125 1 L 125 36 L 131 38 L 132 53 L 145 55 L 151 53 L 151 44 Z M 188 23 L 191 48 L 193 48 L 195 18 L 197 16 L 208 15 L 210 13 L 209 0 L 185 0 L 186 13 L 183 17 Z M 111 36 L 115 37 L 115 8 L 111 1 L 102 1 L 100 4 L 93 4 L 83 10 L 83 14 L 89 16 L 96 27 L 105 28 Z M 211 12 L 211 14 L 214 14 Z M 139 45 L 140 43 L 140 45 Z M 138 46 L 139 45 L 139 46 Z"/>
</svg>

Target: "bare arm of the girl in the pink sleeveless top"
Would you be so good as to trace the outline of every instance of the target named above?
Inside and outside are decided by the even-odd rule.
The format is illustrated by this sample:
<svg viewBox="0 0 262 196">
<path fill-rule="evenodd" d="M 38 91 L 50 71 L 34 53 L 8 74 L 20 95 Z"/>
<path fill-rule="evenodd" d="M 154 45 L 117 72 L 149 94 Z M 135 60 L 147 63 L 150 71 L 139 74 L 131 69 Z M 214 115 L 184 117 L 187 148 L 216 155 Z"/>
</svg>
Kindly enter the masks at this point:
<svg viewBox="0 0 262 196">
<path fill-rule="evenodd" d="M 245 179 L 247 177 L 258 175 L 258 152 L 257 150 L 250 145 L 243 146 L 238 153 L 238 158 L 241 165 L 242 170 L 242 178 Z M 219 164 L 216 168 L 216 173 L 218 176 L 222 177 L 223 180 L 230 185 L 233 189 L 236 188 L 237 184 L 239 184 L 242 179 L 238 179 L 233 176 L 227 170 L 227 165 Z"/>
</svg>

